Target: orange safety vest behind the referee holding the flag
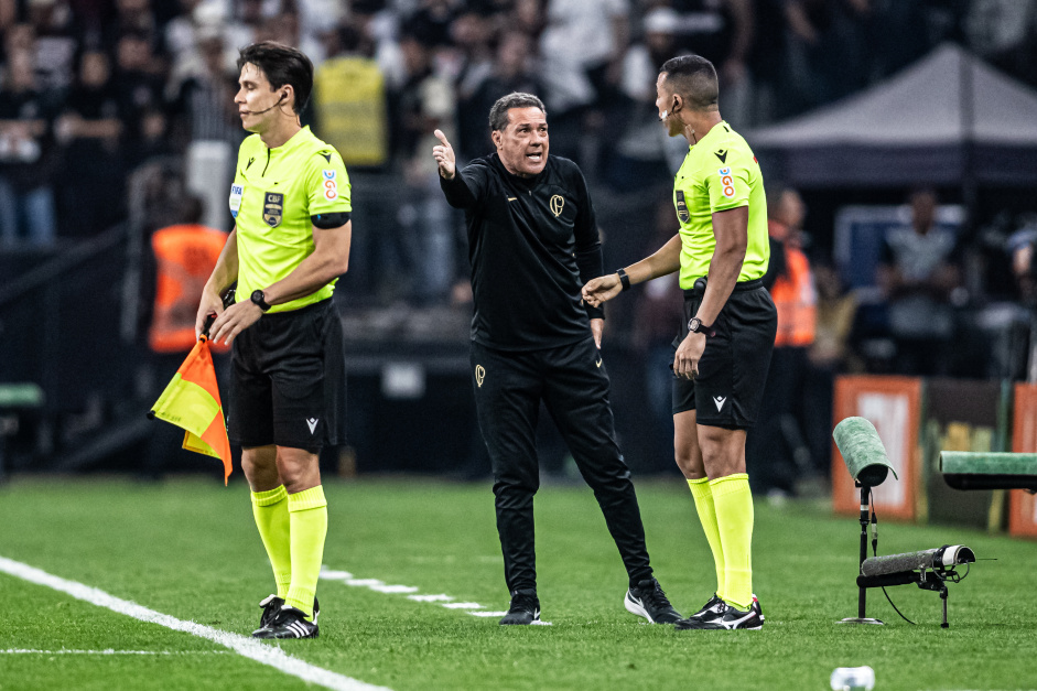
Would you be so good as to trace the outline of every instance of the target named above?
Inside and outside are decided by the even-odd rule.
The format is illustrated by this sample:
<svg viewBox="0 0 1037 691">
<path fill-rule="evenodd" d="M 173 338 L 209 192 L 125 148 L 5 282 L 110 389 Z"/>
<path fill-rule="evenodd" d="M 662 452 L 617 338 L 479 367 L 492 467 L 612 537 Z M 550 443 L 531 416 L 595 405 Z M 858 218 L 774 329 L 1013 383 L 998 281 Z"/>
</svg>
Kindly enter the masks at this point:
<svg viewBox="0 0 1037 691">
<path fill-rule="evenodd" d="M 226 233 L 194 224 L 160 228 L 152 235 L 158 284 L 148 341 L 155 353 L 194 347 L 202 290 L 226 242 Z M 227 347 L 213 344 L 213 349 L 226 352 Z"/>
</svg>

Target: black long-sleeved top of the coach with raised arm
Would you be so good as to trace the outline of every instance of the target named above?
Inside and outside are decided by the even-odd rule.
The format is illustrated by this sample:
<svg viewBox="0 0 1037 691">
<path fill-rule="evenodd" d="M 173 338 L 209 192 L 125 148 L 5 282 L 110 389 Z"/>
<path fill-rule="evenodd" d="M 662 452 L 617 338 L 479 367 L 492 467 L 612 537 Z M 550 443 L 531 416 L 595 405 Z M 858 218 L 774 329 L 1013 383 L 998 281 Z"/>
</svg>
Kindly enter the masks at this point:
<svg viewBox="0 0 1037 691">
<path fill-rule="evenodd" d="M 494 153 L 440 184 L 465 212 L 472 341 L 536 350 L 586 338 L 587 318 L 603 312 L 581 305 L 580 289 L 602 274 L 602 244 L 576 164 L 549 155 L 539 175 L 519 177 Z"/>
</svg>

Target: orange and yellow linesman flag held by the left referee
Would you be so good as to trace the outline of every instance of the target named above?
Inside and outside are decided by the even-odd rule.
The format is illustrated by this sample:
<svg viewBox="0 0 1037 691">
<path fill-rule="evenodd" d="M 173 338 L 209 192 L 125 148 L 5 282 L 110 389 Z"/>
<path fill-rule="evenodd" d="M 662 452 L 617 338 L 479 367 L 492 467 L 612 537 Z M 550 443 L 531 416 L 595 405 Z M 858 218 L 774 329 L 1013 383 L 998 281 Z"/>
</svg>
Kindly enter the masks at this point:
<svg viewBox="0 0 1037 691">
<path fill-rule="evenodd" d="M 220 458 L 224 462 L 224 485 L 227 484 L 230 477 L 230 441 L 227 439 L 208 338 L 202 336 L 194 344 L 149 417 L 186 430 L 184 449 L 187 451 Z"/>
</svg>

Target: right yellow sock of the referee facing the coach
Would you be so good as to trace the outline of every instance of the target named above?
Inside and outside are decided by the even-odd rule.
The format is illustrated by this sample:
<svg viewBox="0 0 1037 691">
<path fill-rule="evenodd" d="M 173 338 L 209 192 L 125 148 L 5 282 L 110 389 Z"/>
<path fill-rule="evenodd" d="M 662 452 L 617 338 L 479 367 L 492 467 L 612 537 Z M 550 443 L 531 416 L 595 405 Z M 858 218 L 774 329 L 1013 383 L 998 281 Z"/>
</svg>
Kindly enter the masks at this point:
<svg viewBox="0 0 1037 691">
<path fill-rule="evenodd" d="M 716 527 L 724 550 L 724 602 L 753 605 L 753 493 L 745 473 L 710 481 Z"/>
</svg>

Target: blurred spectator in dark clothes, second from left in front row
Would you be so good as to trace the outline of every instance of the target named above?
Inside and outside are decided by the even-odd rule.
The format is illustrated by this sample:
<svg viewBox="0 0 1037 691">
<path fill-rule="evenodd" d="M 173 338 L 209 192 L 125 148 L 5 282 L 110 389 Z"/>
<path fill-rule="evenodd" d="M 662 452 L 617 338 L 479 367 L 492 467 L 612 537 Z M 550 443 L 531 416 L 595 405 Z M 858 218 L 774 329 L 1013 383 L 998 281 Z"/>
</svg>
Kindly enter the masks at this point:
<svg viewBox="0 0 1037 691">
<path fill-rule="evenodd" d="M 127 171 L 120 139 L 129 114 L 122 104 L 111 82 L 108 56 L 101 51 L 85 51 L 77 80 L 55 126 L 65 175 L 76 181 L 61 188 L 63 233 L 93 235 L 123 214 Z"/>
</svg>

